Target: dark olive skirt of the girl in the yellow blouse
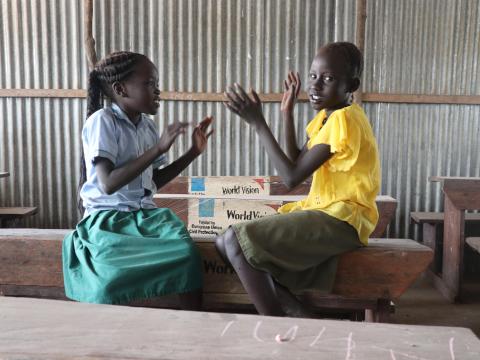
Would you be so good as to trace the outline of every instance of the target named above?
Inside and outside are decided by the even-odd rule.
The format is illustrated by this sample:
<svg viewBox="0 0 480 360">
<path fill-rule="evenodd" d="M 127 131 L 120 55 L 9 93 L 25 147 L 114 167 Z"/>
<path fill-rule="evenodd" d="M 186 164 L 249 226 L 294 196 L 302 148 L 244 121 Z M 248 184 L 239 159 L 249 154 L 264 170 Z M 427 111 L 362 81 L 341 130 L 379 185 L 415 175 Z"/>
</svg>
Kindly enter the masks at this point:
<svg viewBox="0 0 480 360">
<path fill-rule="evenodd" d="M 353 226 L 319 210 L 267 216 L 232 228 L 250 265 L 292 291 L 330 292 L 338 255 L 363 246 Z"/>
</svg>

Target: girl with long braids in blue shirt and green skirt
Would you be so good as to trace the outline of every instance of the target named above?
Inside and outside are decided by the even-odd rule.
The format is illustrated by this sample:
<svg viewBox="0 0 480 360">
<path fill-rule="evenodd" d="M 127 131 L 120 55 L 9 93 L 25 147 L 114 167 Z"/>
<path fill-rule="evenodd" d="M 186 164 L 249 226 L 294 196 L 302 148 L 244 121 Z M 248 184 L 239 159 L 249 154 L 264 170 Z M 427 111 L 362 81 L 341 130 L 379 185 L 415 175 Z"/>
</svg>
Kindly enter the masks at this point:
<svg viewBox="0 0 480 360">
<path fill-rule="evenodd" d="M 102 108 L 103 97 L 111 105 Z M 82 221 L 63 241 L 67 297 L 118 304 L 179 294 L 184 309 L 201 307 L 200 256 L 182 221 L 153 202 L 206 148 L 212 117 L 198 124 L 192 146 L 170 165 L 165 153 L 188 124 L 159 137 L 153 121 L 160 101 L 158 71 L 144 55 L 116 52 L 89 75 L 82 131 Z"/>
</svg>

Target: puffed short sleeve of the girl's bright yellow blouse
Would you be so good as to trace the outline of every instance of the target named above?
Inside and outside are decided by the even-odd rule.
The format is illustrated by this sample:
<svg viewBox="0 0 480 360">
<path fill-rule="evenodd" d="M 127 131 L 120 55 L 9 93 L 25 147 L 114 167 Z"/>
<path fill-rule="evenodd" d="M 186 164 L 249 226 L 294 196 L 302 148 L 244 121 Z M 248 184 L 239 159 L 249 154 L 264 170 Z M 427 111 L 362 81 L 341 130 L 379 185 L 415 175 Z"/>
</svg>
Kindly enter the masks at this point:
<svg viewBox="0 0 480 360">
<path fill-rule="evenodd" d="M 326 124 L 309 140 L 308 148 L 330 145 L 334 155 L 325 165 L 330 171 L 348 171 L 356 163 L 360 151 L 361 133 L 358 124 L 348 119 L 346 111 L 335 111 Z"/>
</svg>

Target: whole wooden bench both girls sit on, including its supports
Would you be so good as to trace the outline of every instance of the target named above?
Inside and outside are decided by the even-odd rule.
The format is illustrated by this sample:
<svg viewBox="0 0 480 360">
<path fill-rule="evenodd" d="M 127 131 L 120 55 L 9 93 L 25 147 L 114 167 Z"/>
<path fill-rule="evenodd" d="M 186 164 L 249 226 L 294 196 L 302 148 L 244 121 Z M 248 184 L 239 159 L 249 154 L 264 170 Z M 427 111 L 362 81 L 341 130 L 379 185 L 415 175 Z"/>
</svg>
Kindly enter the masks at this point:
<svg viewBox="0 0 480 360">
<path fill-rule="evenodd" d="M 64 299 L 61 246 L 71 230 L 0 229 L 0 295 Z M 234 270 L 218 255 L 212 238 L 194 239 L 203 258 L 206 310 L 251 308 Z M 332 295 L 304 292 L 316 308 L 366 311 L 367 320 L 387 321 L 390 301 L 426 269 L 432 250 L 406 239 L 370 239 L 370 245 L 340 257 Z M 151 304 L 152 305 L 152 304 Z M 158 307 L 175 307 L 159 298 Z"/>
</svg>

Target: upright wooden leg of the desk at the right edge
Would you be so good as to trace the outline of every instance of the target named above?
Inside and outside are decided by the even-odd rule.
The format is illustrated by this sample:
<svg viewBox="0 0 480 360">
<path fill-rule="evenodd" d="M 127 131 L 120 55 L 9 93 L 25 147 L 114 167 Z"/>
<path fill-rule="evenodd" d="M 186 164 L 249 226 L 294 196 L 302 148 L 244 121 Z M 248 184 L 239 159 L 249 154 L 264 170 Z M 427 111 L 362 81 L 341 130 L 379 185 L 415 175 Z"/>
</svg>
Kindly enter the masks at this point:
<svg viewBox="0 0 480 360">
<path fill-rule="evenodd" d="M 465 242 L 465 213 L 457 208 L 445 193 L 445 220 L 443 230 L 442 279 L 449 301 L 460 297 L 460 282 L 463 273 L 463 249 Z"/>
</svg>

